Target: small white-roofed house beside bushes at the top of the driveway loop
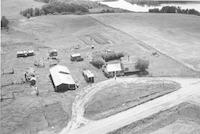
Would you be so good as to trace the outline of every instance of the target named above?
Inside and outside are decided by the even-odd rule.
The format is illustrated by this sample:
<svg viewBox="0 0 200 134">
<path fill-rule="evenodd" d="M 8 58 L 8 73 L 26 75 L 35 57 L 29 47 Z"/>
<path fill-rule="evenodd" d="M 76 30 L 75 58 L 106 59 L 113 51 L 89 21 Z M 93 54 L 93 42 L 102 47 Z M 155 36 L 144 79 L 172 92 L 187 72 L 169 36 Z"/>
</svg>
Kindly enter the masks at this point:
<svg viewBox="0 0 200 134">
<path fill-rule="evenodd" d="M 122 76 L 124 75 L 121 63 L 111 63 L 107 64 L 103 67 L 103 72 L 106 77 L 114 77 L 116 76 Z"/>
</svg>

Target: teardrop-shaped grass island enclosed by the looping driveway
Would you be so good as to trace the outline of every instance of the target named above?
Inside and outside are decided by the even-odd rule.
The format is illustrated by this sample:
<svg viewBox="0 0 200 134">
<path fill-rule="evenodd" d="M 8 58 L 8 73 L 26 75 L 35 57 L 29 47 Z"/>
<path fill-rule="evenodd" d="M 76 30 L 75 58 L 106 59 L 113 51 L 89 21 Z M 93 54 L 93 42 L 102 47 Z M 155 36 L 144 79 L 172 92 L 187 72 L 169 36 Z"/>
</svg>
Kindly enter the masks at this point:
<svg viewBox="0 0 200 134">
<path fill-rule="evenodd" d="M 144 102 L 177 90 L 173 81 L 152 80 L 146 82 L 119 81 L 102 87 L 85 105 L 85 117 L 97 120 L 127 110 Z"/>
</svg>

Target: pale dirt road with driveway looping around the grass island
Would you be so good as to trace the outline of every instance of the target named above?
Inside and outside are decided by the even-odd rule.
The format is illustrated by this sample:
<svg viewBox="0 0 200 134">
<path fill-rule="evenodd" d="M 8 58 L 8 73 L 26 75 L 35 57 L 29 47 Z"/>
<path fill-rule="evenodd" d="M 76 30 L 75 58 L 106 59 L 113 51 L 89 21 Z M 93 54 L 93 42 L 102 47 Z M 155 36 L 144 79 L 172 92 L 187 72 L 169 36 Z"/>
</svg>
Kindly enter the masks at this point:
<svg viewBox="0 0 200 134">
<path fill-rule="evenodd" d="M 112 86 L 117 82 L 145 82 L 147 80 L 172 80 L 181 84 L 182 88 L 163 97 L 149 101 L 130 110 L 118 113 L 108 118 L 91 121 L 83 117 L 84 105 L 98 91 L 102 90 L 106 85 Z M 117 78 L 109 79 L 82 89 L 76 97 L 73 108 L 72 118 L 67 127 L 60 134 L 79 134 L 79 133 L 107 133 L 124 125 L 130 124 L 136 120 L 142 119 L 161 110 L 169 109 L 181 102 L 200 96 L 200 79 L 184 79 L 184 78 Z M 194 100 L 193 100 L 194 101 Z M 79 128 L 82 124 L 85 126 Z"/>
</svg>

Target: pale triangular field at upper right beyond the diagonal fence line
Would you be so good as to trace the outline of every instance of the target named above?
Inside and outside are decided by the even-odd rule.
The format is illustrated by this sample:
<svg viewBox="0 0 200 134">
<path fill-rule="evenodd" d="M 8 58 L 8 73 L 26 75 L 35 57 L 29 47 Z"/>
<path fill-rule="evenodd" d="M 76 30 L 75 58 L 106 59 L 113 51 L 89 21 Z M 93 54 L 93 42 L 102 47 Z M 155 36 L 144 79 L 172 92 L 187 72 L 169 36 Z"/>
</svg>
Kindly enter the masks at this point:
<svg viewBox="0 0 200 134">
<path fill-rule="evenodd" d="M 142 40 L 195 70 L 200 70 L 198 16 L 122 13 L 96 15 L 95 18 Z"/>
</svg>

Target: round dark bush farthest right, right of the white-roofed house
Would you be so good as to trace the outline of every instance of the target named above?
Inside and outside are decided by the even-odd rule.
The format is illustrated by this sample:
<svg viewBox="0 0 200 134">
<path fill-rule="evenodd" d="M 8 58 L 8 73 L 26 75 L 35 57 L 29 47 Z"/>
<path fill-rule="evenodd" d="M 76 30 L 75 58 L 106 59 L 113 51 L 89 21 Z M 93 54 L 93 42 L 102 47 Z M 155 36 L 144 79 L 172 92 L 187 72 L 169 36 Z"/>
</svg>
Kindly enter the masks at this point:
<svg viewBox="0 0 200 134">
<path fill-rule="evenodd" d="M 135 68 L 139 69 L 140 71 L 144 72 L 149 67 L 149 61 L 146 59 L 138 59 Z"/>
</svg>

